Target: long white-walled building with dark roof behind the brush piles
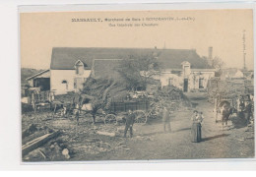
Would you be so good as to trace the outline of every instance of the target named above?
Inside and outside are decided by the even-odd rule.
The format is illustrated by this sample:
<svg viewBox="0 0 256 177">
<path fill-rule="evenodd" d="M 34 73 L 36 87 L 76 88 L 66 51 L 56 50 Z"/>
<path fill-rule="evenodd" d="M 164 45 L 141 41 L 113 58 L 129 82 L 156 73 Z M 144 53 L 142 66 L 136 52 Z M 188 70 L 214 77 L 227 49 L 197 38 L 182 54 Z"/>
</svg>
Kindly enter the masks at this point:
<svg viewBox="0 0 256 177">
<path fill-rule="evenodd" d="M 153 55 L 160 62 L 163 68 L 159 77 L 162 86 L 175 85 L 183 87 L 185 91 L 205 88 L 207 80 L 214 75 L 208 62 L 194 49 L 54 47 L 50 69 L 27 80 L 32 87 L 64 94 L 67 91 L 83 89 L 90 76 L 118 78 L 116 67 L 122 59 L 146 55 Z M 194 75 L 197 87 L 191 82 Z"/>
</svg>

